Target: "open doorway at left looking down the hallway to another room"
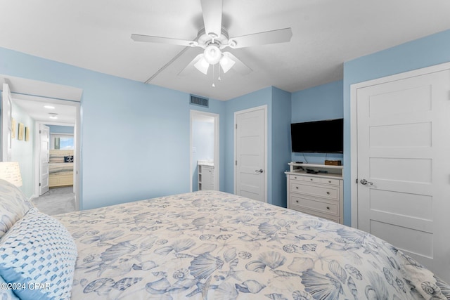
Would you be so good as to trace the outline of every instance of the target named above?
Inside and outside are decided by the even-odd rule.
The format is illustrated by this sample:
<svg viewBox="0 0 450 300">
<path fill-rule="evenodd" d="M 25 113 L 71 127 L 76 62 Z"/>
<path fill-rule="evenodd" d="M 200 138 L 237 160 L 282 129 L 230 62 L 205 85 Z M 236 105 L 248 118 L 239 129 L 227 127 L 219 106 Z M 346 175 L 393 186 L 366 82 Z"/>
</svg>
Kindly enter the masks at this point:
<svg viewBox="0 0 450 300">
<path fill-rule="evenodd" d="M 34 142 L 33 203 L 46 214 L 78 210 L 79 103 L 44 97 L 25 99 L 16 95 L 13 105 L 34 122 L 31 133 Z"/>
</svg>

